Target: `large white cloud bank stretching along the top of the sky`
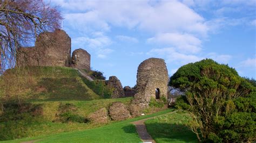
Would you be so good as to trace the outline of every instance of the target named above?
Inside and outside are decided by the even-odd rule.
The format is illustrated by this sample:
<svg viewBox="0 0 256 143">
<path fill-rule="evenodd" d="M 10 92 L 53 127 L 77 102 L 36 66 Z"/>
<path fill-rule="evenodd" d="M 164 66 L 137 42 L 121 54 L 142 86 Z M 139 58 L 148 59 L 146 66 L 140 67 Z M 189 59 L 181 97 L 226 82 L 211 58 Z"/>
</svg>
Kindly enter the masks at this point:
<svg viewBox="0 0 256 143">
<path fill-rule="evenodd" d="M 151 32 L 185 31 L 206 34 L 204 18 L 178 1 L 52 1 L 68 13 L 70 25 L 78 29 L 109 30 L 110 24 Z M 76 12 L 76 11 L 79 12 Z"/>
</svg>

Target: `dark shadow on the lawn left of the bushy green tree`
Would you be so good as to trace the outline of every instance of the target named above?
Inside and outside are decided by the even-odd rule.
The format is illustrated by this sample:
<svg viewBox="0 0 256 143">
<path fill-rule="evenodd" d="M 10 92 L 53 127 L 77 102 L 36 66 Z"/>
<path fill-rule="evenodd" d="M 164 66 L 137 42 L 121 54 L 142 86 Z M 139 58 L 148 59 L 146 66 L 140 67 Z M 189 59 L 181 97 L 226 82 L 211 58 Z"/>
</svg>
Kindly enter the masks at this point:
<svg viewBox="0 0 256 143">
<path fill-rule="evenodd" d="M 196 134 L 183 124 L 148 123 L 146 128 L 157 142 L 198 142 Z"/>
</svg>

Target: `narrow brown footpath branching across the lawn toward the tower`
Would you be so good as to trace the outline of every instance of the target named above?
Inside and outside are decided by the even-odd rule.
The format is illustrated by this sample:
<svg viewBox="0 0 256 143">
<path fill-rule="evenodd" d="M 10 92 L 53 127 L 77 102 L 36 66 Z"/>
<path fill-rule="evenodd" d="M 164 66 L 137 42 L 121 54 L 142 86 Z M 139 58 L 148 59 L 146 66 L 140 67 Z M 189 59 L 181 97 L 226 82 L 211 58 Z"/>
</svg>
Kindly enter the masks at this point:
<svg viewBox="0 0 256 143">
<path fill-rule="evenodd" d="M 166 114 L 170 114 L 170 113 L 175 113 L 177 112 L 173 111 L 173 112 L 169 112 Z M 166 115 L 164 114 L 164 115 Z M 162 116 L 162 115 L 159 115 Z M 156 118 L 158 116 L 154 116 L 154 117 L 150 117 L 150 118 L 146 118 L 146 119 L 142 119 L 142 120 L 137 120 L 137 121 L 133 121 L 132 124 L 134 124 L 136 126 L 136 130 L 139 134 L 140 139 L 142 139 L 143 142 L 153 142 L 155 143 L 156 141 L 153 140 L 153 138 L 151 137 L 151 135 L 149 133 L 147 133 L 147 129 L 146 129 L 146 125 L 144 124 L 144 121 L 149 120 L 149 119 L 153 119 Z"/>
</svg>

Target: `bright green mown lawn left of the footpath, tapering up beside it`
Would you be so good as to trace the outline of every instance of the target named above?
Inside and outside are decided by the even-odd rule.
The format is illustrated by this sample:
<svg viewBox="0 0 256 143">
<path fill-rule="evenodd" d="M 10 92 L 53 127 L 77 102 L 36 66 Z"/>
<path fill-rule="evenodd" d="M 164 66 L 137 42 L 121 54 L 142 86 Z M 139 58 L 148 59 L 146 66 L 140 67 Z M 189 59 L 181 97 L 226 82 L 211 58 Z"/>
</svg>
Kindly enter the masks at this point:
<svg viewBox="0 0 256 143">
<path fill-rule="evenodd" d="M 85 131 L 59 133 L 56 135 L 48 135 L 43 137 L 18 139 L 3 142 L 21 142 L 29 140 L 38 140 L 38 142 L 140 142 L 140 138 L 131 121 L 136 121 L 144 118 L 163 115 L 173 110 L 164 110 L 152 115 L 141 116 L 117 123 L 111 123 L 98 128 L 93 128 Z"/>
</svg>

